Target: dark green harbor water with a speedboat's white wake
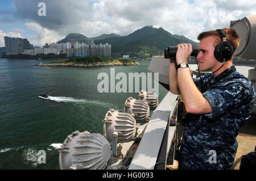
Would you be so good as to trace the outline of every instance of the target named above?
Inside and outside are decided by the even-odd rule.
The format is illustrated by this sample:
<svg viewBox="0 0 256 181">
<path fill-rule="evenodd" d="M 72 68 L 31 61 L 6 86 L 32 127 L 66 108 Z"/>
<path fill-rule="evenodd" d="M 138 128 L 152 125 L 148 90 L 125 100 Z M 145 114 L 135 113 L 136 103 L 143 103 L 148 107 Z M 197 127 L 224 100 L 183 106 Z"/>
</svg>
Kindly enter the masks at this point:
<svg viewBox="0 0 256 181">
<path fill-rule="evenodd" d="M 103 134 L 102 120 L 110 109 L 123 112 L 125 100 L 138 92 L 100 93 L 99 73 L 147 73 L 140 65 L 97 68 L 34 66 L 51 61 L 0 59 L 0 169 L 60 169 L 59 152 L 74 131 Z M 118 82 L 118 81 L 116 81 Z M 167 94 L 159 85 L 159 101 Z M 49 99 L 39 98 L 49 95 Z M 46 151 L 46 163 L 38 151 Z"/>
</svg>

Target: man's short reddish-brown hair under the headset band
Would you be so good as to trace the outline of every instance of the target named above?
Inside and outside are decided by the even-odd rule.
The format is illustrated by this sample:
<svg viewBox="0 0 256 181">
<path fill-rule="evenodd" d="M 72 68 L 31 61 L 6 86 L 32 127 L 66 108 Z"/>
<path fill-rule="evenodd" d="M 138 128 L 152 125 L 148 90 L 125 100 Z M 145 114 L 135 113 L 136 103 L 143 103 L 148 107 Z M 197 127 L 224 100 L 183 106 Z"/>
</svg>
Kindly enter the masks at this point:
<svg viewBox="0 0 256 181">
<path fill-rule="evenodd" d="M 240 38 L 237 35 L 236 30 L 234 30 L 234 28 L 231 28 L 231 27 L 223 28 L 223 30 L 226 33 L 226 40 L 228 40 L 228 41 L 230 41 L 232 43 L 232 45 L 233 45 L 233 52 L 235 52 L 237 47 L 239 46 L 239 43 L 240 43 Z M 221 43 L 220 34 L 216 30 L 210 30 L 210 31 L 201 32 L 199 34 L 199 36 L 197 37 L 197 40 L 201 41 L 205 37 L 208 37 L 208 36 L 217 36 L 218 37 L 216 39 L 216 41 L 214 42 L 214 47 L 216 47 L 217 44 Z"/>
</svg>

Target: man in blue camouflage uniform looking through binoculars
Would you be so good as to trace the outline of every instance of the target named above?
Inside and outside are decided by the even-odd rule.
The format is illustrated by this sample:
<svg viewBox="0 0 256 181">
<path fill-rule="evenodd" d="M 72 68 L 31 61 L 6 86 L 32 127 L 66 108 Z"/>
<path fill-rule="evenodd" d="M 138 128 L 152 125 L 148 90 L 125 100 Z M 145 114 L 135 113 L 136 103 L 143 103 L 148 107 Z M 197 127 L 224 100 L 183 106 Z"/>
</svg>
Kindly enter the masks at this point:
<svg viewBox="0 0 256 181">
<path fill-rule="evenodd" d="M 197 39 L 199 70 L 211 70 L 211 74 L 192 78 L 191 44 L 177 45 L 176 65 L 170 60 L 170 91 L 182 96 L 189 115 L 180 146 L 180 169 L 232 169 L 239 129 L 253 109 L 254 87 L 232 63 L 240 41 L 233 28 L 202 32 Z"/>
</svg>

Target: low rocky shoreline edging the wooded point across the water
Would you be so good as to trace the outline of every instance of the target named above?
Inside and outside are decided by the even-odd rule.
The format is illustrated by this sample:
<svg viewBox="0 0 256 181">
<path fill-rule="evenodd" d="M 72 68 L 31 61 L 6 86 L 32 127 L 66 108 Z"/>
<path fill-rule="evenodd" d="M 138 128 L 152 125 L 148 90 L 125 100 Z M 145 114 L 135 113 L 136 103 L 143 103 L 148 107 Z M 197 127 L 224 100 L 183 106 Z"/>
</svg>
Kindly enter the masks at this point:
<svg viewBox="0 0 256 181">
<path fill-rule="evenodd" d="M 35 66 L 65 66 L 65 67 L 79 67 L 79 68 L 86 68 L 86 67 L 94 67 L 94 66 L 110 66 L 110 65 L 139 65 L 138 62 L 127 62 L 123 63 L 118 60 L 114 60 L 113 62 L 97 62 L 93 64 L 77 64 L 75 62 L 68 62 L 68 63 L 50 63 L 50 64 L 38 64 Z"/>
</svg>

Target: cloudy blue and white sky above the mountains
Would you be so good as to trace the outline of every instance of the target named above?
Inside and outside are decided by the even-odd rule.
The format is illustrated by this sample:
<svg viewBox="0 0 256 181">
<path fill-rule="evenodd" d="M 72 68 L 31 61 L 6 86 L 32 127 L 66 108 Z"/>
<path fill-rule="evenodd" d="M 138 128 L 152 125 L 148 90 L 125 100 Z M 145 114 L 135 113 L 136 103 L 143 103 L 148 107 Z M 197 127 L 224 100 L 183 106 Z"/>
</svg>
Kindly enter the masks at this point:
<svg viewBox="0 0 256 181">
<path fill-rule="evenodd" d="M 42 46 L 69 33 L 126 36 L 148 25 L 197 41 L 200 32 L 229 27 L 230 20 L 253 14 L 255 0 L 0 0 L 0 47 L 5 47 L 4 36 Z"/>
</svg>

